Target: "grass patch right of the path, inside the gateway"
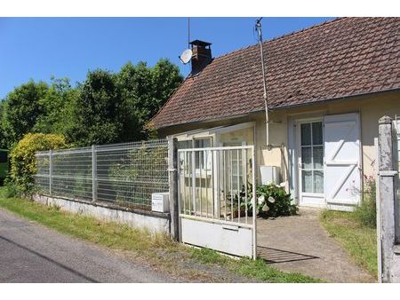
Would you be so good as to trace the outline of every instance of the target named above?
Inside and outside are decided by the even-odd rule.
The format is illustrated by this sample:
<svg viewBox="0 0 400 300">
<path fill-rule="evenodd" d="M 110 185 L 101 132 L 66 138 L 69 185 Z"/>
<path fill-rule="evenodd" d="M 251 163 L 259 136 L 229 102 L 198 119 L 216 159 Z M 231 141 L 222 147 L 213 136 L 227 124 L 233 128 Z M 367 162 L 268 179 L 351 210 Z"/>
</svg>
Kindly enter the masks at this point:
<svg viewBox="0 0 400 300">
<path fill-rule="evenodd" d="M 325 210 L 321 221 L 326 231 L 346 249 L 356 263 L 377 277 L 376 228 L 362 225 L 354 213 Z"/>
</svg>

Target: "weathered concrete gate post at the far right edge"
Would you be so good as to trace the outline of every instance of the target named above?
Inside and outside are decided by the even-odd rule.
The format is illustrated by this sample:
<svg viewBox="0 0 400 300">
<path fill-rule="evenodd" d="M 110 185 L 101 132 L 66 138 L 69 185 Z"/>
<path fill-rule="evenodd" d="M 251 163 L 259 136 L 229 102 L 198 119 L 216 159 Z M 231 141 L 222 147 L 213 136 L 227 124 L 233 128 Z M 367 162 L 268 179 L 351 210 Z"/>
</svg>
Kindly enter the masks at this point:
<svg viewBox="0 0 400 300">
<path fill-rule="evenodd" d="M 398 162 L 395 153 L 396 145 L 393 141 L 394 129 L 392 119 L 383 116 L 379 121 L 379 177 L 378 177 L 378 201 L 380 206 L 380 218 L 377 231 L 380 233 L 381 257 L 381 282 L 400 282 L 400 256 L 396 254 L 396 221 L 398 221 L 397 185 Z M 379 264 L 380 265 L 380 264 Z"/>
</svg>

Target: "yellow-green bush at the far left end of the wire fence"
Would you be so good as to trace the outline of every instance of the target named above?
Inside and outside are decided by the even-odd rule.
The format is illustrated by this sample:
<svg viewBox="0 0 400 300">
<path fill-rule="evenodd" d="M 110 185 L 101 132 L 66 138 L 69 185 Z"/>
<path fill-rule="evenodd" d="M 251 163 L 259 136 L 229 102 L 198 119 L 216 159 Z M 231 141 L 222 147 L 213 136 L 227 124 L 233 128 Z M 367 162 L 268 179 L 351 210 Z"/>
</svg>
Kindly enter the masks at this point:
<svg viewBox="0 0 400 300">
<path fill-rule="evenodd" d="M 11 170 L 8 186 L 21 196 L 27 196 L 34 187 L 36 151 L 66 147 L 64 137 L 56 134 L 28 133 L 10 153 Z"/>
</svg>

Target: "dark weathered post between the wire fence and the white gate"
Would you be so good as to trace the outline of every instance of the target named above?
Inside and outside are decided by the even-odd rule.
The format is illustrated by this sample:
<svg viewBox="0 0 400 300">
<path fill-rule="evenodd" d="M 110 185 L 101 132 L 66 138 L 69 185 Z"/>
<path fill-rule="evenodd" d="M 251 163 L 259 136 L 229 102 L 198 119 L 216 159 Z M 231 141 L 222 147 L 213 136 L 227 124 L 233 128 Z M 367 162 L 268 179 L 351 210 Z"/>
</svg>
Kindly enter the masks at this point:
<svg viewBox="0 0 400 300">
<path fill-rule="evenodd" d="M 170 216 L 171 237 L 178 241 L 179 232 L 179 209 L 178 209 L 178 140 L 168 138 L 168 172 L 170 186 Z"/>
</svg>

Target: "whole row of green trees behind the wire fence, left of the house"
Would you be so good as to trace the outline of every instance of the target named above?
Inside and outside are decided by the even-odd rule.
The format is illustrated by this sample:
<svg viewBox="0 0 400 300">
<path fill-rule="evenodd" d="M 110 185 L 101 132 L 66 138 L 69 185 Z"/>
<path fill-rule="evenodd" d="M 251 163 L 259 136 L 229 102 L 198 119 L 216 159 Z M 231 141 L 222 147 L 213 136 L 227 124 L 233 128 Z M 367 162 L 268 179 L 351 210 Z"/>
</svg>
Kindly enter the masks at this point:
<svg viewBox="0 0 400 300">
<path fill-rule="evenodd" d="M 12 147 L 28 132 L 62 134 L 76 146 L 154 138 L 151 117 L 182 82 L 177 66 L 127 63 L 113 74 L 90 71 L 72 88 L 67 78 L 29 81 L 0 105 L 0 144 Z"/>
</svg>

